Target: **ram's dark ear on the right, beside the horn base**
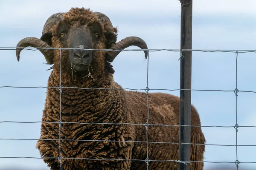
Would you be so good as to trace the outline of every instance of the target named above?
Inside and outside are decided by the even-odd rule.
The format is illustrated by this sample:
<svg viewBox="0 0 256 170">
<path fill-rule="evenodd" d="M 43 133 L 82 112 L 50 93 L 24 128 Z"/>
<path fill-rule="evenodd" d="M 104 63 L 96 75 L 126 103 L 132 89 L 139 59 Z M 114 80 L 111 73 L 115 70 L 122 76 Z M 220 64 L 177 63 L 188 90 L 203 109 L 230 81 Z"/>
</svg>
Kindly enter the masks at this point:
<svg viewBox="0 0 256 170">
<path fill-rule="evenodd" d="M 107 25 L 105 26 L 105 30 L 105 37 L 107 39 L 106 48 L 111 48 L 111 46 L 116 43 L 117 29 Z"/>
</svg>

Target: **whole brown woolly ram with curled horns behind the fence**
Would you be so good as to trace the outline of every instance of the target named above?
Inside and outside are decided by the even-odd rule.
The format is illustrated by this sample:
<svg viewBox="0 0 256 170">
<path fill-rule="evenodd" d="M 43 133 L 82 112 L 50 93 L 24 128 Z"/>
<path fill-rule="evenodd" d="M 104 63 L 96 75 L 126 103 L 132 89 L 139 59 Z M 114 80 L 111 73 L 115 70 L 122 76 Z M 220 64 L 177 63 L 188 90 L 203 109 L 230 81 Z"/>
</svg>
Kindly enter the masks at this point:
<svg viewBox="0 0 256 170">
<path fill-rule="evenodd" d="M 59 125 L 56 123 L 42 123 L 40 138 L 55 140 L 38 140 L 36 145 L 52 170 L 60 169 L 59 160 L 53 159 L 58 158 L 60 151 L 63 170 L 145 170 L 147 166 L 142 161 L 131 161 L 147 158 L 145 142 L 132 142 L 146 141 L 145 127 L 122 125 L 122 123 L 144 124 L 147 121 L 146 94 L 136 91 L 97 89 L 122 88 L 114 81 L 114 70 L 110 64 L 119 51 L 84 50 L 106 48 L 122 50 L 131 45 L 147 49 L 146 43 L 139 37 L 127 37 L 116 43 L 116 32 L 116 28 L 104 14 L 93 13 L 84 8 L 71 8 L 66 13 L 49 17 L 41 39 L 28 37 L 17 45 L 17 47 L 39 48 L 47 62 L 54 64 L 48 87 L 60 85 L 61 72 L 61 85 L 64 87 L 61 97 L 58 88 L 47 89 L 42 118 L 42 122 L 58 122 L 61 99 L 61 139 L 64 139 L 61 141 L 61 149 L 58 141 Z M 42 49 L 42 47 L 76 49 L 62 49 L 60 61 L 59 49 Z M 21 50 L 22 48 L 16 51 L 18 60 Z M 179 124 L 177 96 L 150 93 L 148 102 L 150 124 Z M 90 124 L 90 122 L 105 124 Z M 193 106 L 191 125 L 201 125 L 199 115 Z M 179 127 L 149 126 L 148 141 L 179 142 Z M 201 127 L 191 128 L 191 142 L 204 144 Z M 148 144 L 148 157 L 151 160 L 178 160 L 178 155 L 178 144 Z M 204 145 L 192 144 L 191 161 L 202 161 L 203 155 Z M 149 168 L 177 170 L 177 164 L 175 161 L 150 161 Z M 202 162 L 192 163 L 191 170 L 203 170 L 203 165 Z"/>
</svg>

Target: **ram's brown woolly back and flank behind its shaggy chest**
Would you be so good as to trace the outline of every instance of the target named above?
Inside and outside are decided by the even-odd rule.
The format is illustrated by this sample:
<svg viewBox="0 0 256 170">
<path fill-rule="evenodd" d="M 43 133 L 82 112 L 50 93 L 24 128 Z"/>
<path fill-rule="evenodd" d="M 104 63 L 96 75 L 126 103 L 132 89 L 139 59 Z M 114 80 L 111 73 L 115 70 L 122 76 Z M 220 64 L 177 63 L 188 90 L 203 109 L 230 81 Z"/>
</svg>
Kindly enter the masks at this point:
<svg viewBox="0 0 256 170">
<path fill-rule="evenodd" d="M 146 159 L 146 123 L 148 122 L 148 158 L 150 169 L 171 169 L 178 170 L 175 161 L 156 162 L 154 160 L 179 160 L 179 127 L 163 125 L 179 125 L 180 98 L 171 94 L 149 93 L 148 102 L 146 93 L 127 92 L 127 104 L 131 109 L 131 123 L 145 124 L 136 126 L 136 141 L 132 159 Z M 191 125 L 201 125 L 196 109 L 191 107 Z M 192 143 L 204 144 L 205 139 L 201 127 L 191 127 Z M 163 143 L 151 143 L 163 142 Z M 202 161 L 204 145 L 192 145 L 191 161 Z M 146 163 L 134 161 L 131 169 L 145 169 Z M 203 163 L 191 164 L 192 170 L 202 170 Z"/>
</svg>

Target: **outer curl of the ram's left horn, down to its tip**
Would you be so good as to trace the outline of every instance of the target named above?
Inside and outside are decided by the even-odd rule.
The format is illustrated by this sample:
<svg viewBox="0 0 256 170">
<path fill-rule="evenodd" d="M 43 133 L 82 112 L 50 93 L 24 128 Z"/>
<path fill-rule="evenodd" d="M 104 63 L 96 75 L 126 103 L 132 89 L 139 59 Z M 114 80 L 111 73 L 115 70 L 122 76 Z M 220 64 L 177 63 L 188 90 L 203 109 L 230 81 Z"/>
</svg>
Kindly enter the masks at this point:
<svg viewBox="0 0 256 170">
<path fill-rule="evenodd" d="M 17 60 L 20 60 L 20 51 L 23 50 L 22 47 L 35 47 L 35 48 L 51 48 L 50 45 L 48 45 L 46 42 L 44 42 L 43 40 L 40 40 L 38 38 L 35 37 L 26 37 L 22 40 L 20 40 L 20 42 L 17 44 L 17 48 L 16 48 L 16 57 Z M 39 49 L 39 51 L 41 51 L 42 54 L 44 54 L 44 57 L 47 61 L 48 64 L 53 64 L 53 50 L 49 50 L 49 49 Z"/>
</svg>

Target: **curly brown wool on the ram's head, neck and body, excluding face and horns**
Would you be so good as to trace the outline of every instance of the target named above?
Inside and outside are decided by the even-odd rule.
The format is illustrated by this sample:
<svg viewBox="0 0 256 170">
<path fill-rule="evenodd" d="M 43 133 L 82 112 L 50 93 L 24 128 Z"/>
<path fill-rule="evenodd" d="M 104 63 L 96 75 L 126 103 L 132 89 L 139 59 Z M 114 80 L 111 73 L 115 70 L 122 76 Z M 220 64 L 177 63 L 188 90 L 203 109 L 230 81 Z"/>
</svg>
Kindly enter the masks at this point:
<svg viewBox="0 0 256 170">
<path fill-rule="evenodd" d="M 64 14 L 62 21 L 78 27 L 79 24 L 93 25 L 98 23 L 104 33 L 106 24 L 99 23 L 89 9 L 72 8 Z M 84 27 L 85 27 L 84 26 Z M 66 47 L 58 37 L 58 23 L 51 28 L 51 47 Z M 107 28 L 108 29 L 108 28 Z M 113 32 L 113 29 L 110 29 Z M 116 28 L 114 29 L 115 33 Z M 104 34 L 94 49 L 106 48 Z M 50 41 L 50 40 L 49 40 Z M 69 41 L 69 39 L 67 39 Z M 42 52 L 43 53 L 43 52 Z M 47 54 L 48 53 L 43 53 Z M 90 76 L 88 72 L 73 72 L 70 69 L 67 50 L 61 51 L 61 85 L 64 87 L 79 88 L 122 88 L 113 79 L 113 72 L 105 68 L 106 51 L 93 51 Z M 52 72 L 48 87 L 60 85 L 59 50 L 53 51 Z M 180 100 L 177 96 L 163 93 L 149 93 L 149 123 L 164 125 L 179 125 Z M 60 91 L 57 88 L 48 88 L 42 122 L 58 122 L 60 119 Z M 63 88 L 61 93 L 61 121 L 79 123 L 131 123 L 145 124 L 147 122 L 147 98 L 145 93 L 137 91 L 100 90 Z M 191 125 L 201 125 L 196 109 L 191 108 Z M 59 125 L 55 123 L 41 124 L 40 139 L 36 147 L 42 158 L 51 168 L 59 170 Z M 145 161 L 95 160 L 95 159 L 140 159 L 147 158 L 146 130 L 141 125 L 106 125 L 106 124 L 61 124 L 61 157 L 62 170 L 145 170 Z M 69 141 L 75 140 L 104 140 L 96 141 Z M 116 142 L 108 142 L 116 141 Z M 120 142 L 127 141 L 127 142 Z M 129 141 L 144 141 L 129 142 Z M 149 126 L 149 142 L 179 142 L 179 127 Z M 191 127 L 191 143 L 204 144 L 205 138 L 201 127 Z M 178 160 L 178 144 L 148 144 L 148 157 L 151 160 Z M 191 145 L 191 161 L 203 161 L 204 145 Z M 65 159 L 71 158 L 71 159 Z M 78 158 L 78 159 L 75 159 Z M 80 159 L 79 159 L 80 158 Z M 84 158 L 84 159 L 82 159 Z M 91 159 L 91 160 L 87 160 Z M 204 163 L 191 163 L 191 170 L 203 170 Z M 178 170 L 175 161 L 149 162 L 150 170 Z"/>
</svg>

